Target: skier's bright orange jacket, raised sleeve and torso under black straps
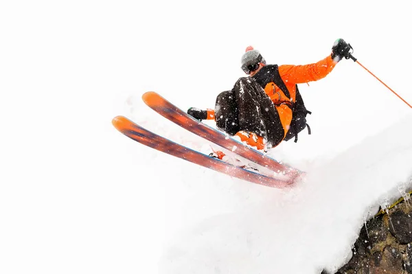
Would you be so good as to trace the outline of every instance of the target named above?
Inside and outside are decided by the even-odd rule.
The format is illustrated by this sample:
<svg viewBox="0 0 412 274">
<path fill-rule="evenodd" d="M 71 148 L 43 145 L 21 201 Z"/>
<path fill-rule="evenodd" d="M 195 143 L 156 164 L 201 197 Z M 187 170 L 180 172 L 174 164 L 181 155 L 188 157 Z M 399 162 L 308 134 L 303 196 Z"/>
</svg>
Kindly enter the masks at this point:
<svg viewBox="0 0 412 274">
<path fill-rule="evenodd" d="M 271 98 L 279 113 L 284 128 L 284 137 L 292 122 L 292 109 L 284 103 L 296 101 L 296 84 L 320 80 L 327 76 L 335 65 L 336 62 L 331 56 L 309 65 L 280 65 L 279 74 L 290 93 L 290 99 L 273 82 L 266 84 L 264 91 Z"/>
</svg>

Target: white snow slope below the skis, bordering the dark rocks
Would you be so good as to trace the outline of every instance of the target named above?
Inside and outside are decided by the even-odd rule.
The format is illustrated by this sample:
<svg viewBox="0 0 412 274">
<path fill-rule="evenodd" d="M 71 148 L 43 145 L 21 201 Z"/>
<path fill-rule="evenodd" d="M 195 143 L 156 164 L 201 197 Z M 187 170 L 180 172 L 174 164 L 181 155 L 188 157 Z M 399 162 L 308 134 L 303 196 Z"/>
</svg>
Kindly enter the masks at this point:
<svg viewBox="0 0 412 274">
<path fill-rule="evenodd" d="M 231 184 L 227 190 L 218 179 L 209 182 L 230 193 L 225 201 L 214 198 L 222 213 L 194 223 L 187 220 L 191 225 L 168 244 L 161 273 L 336 271 L 350 258 L 364 221 L 385 198 L 401 196 L 411 187 L 412 141 L 380 145 L 395 130 L 410 136 L 411 115 L 334 159 L 307 167 L 308 175 L 293 190 L 247 183 Z M 204 191 L 192 195 L 196 198 L 187 202 L 191 207 L 210 203 Z M 233 208 L 227 209 L 227 203 Z"/>
</svg>

